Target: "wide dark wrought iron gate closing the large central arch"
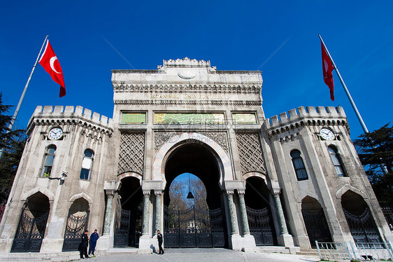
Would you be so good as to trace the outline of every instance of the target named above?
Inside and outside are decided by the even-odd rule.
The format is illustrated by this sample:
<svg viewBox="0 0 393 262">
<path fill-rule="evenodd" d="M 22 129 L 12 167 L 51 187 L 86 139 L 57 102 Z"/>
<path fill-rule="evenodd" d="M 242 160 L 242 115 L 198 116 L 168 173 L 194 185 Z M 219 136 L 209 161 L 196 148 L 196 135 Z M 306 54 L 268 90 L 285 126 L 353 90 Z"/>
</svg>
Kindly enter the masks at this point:
<svg viewBox="0 0 393 262">
<path fill-rule="evenodd" d="M 224 247 L 222 209 L 164 206 L 164 243 L 165 247 Z"/>
</svg>

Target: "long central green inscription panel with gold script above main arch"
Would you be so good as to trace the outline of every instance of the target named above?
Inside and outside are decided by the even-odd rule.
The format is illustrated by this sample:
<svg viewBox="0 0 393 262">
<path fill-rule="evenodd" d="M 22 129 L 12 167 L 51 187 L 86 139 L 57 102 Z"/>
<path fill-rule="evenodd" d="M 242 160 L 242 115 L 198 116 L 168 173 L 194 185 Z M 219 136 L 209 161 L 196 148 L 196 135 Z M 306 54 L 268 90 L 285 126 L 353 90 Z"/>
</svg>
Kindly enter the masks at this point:
<svg viewBox="0 0 393 262">
<path fill-rule="evenodd" d="M 155 113 L 155 124 L 224 124 L 224 113 Z"/>
</svg>

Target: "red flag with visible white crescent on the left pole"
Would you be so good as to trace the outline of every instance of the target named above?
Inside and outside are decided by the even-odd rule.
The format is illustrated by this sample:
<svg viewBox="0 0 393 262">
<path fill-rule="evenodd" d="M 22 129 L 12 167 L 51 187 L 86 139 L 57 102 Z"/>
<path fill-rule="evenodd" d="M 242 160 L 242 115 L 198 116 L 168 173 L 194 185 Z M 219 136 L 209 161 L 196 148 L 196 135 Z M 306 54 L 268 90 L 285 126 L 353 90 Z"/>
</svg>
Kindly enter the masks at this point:
<svg viewBox="0 0 393 262">
<path fill-rule="evenodd" d="M 66 86 L 64 85 L 63 70 L 55 52 L 53 52 L 52 46 L 50 46 L 49 40 L 46 41 L 45 50 L 43 50 L 43 54 L 38 62 L 50 74 L 53 81 L 60 85 L 59 97 L 64 97 L 66 95 Z"/>
</svg>

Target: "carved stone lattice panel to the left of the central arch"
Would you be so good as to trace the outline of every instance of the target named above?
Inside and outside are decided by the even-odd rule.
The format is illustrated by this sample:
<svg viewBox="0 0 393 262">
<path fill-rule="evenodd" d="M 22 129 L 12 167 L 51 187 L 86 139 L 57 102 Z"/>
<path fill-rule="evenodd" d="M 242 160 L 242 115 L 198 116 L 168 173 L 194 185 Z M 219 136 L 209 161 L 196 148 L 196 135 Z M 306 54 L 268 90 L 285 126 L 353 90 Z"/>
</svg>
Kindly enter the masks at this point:
<svg viewBox="0 0 393 262">
<path fill-rule="evenodd" d="M 120 136 L 120 154 L 117 174 L 136 172 L 143 175 L 143 157 L 145 156 L 144 133 L 122 133 Z"/>
</svg>

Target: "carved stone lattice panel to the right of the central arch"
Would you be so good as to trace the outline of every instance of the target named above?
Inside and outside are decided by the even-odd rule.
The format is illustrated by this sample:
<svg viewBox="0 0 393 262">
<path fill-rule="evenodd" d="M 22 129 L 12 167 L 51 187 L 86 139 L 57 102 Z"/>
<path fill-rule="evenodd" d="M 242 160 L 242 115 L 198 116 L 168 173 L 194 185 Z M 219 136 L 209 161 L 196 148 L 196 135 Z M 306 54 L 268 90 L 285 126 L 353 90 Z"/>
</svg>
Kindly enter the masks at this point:
<svg viewBox="0 0 393 262">
<path fill-rule="evenodd" d="M 241 172 L 258 171 L 266 174 L 259 133 L 236 133 Z"/>
</svg>

